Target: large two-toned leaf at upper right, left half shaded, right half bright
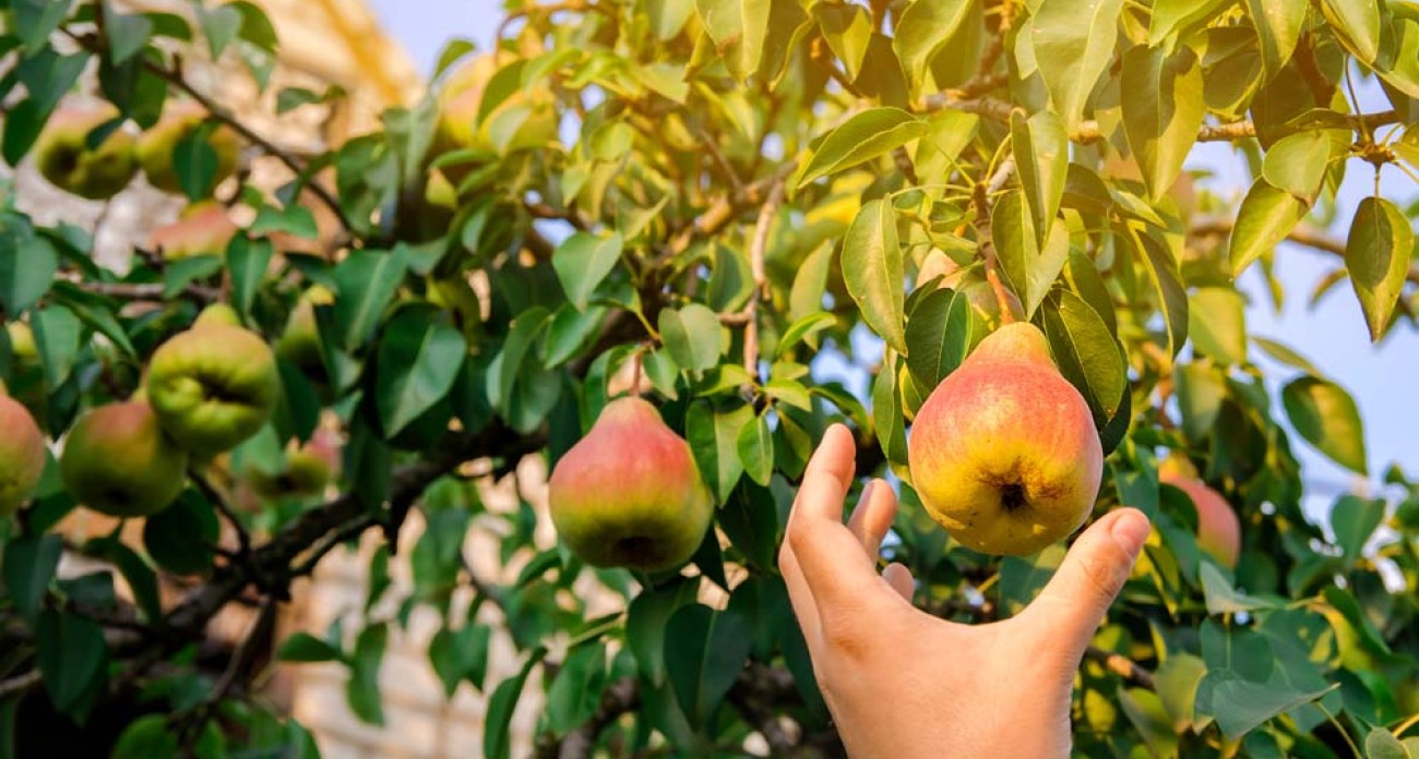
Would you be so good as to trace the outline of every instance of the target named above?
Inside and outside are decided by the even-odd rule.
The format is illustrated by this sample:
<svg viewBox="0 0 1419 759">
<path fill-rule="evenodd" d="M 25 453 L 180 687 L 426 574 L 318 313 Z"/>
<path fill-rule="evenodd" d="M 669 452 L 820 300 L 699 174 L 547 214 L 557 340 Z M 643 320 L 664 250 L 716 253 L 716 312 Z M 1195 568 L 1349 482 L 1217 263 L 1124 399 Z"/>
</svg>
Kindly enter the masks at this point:
<svg viewBox="0 0 1419 759">
<path fill-rule="evenodd" d="M 1156 203 L 1172 189 L 1198 142 L 1206 111 L 1202 62 L 1188 47 L 1169 55 L 1162 48 L 1138 45 L 1124 54 L 1118 87 L 1128 148 L 1138 160 L 1148 197 Z"/>
</svg>

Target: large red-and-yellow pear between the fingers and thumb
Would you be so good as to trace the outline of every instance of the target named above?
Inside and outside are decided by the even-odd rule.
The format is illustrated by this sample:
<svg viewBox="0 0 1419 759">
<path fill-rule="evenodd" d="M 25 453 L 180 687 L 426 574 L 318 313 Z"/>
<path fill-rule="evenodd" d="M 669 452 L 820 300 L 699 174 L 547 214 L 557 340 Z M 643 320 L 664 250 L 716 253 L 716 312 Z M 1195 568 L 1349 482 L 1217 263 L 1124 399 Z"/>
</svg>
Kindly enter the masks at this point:
<svg viewBox="0 0 1419 759">
<path fill-rule="evenodd" d="M 1044 335 L 1013 322 L 927 397 L 907 460 L 927 512 L 962 545 L 1027 556 L 1084 523 L 1104 451 Z"/>
</svg>

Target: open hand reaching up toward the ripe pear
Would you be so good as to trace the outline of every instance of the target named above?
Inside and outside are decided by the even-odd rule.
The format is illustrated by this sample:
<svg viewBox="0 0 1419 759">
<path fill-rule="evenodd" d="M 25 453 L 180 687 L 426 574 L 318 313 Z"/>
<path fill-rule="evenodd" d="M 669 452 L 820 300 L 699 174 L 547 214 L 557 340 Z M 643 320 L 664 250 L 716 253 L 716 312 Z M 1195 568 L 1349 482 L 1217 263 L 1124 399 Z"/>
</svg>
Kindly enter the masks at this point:
<svg viewBox="0 0 1419 759">
<path fill-rule="evenodd" d="M 911 606 L 911 572 L 876 559 L 897 514 L 874 480 L 849 523 L 843 499 L 854 444 L 833 426 L 789 515 L 779 567 L 813 672 L 854 759 L 1069 756 L 1070 692 L 1080 658 L 1148 536 L 1118 509 L 1074 542 L 1020 614 L 956 624 Z"/>
</svg>

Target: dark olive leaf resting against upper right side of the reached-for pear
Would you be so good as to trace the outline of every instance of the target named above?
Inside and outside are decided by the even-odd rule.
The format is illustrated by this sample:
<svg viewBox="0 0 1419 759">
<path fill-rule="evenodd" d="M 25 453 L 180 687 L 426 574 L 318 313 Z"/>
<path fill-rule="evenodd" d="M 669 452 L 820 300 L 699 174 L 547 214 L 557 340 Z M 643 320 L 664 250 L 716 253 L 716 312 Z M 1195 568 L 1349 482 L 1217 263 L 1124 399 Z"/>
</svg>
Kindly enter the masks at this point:
<svg viewBox="0 0 1419 759">
<path fill-rule="evenodd" d="M 1054 363 L 1088 401 L 1094 426 L 1103 430 L 1128 389 L 1118 342 L 1098 314 L 1067 289 L 1051 292 L 1040 314 Z"/>
</svg>

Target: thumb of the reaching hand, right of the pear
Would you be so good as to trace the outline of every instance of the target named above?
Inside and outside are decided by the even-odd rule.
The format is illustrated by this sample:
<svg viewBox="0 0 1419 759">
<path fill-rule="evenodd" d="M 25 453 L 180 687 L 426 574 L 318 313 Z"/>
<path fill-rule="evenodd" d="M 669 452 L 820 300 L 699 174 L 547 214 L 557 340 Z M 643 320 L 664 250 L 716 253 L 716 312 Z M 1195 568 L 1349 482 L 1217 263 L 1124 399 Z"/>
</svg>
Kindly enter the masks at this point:
<svg viewBox="0 0 1419 759">
<path fill-rule="evenodd" d="M 1056 646 L 1069 646 L 1071 657 L 1083 655 L 1124 587 L 1148 531 L 1148 518 L 1132 508 L 1094 522 L 1074 541 L 1064 563 L 1022 614 L 1022 621 Z"/>
</svg>

